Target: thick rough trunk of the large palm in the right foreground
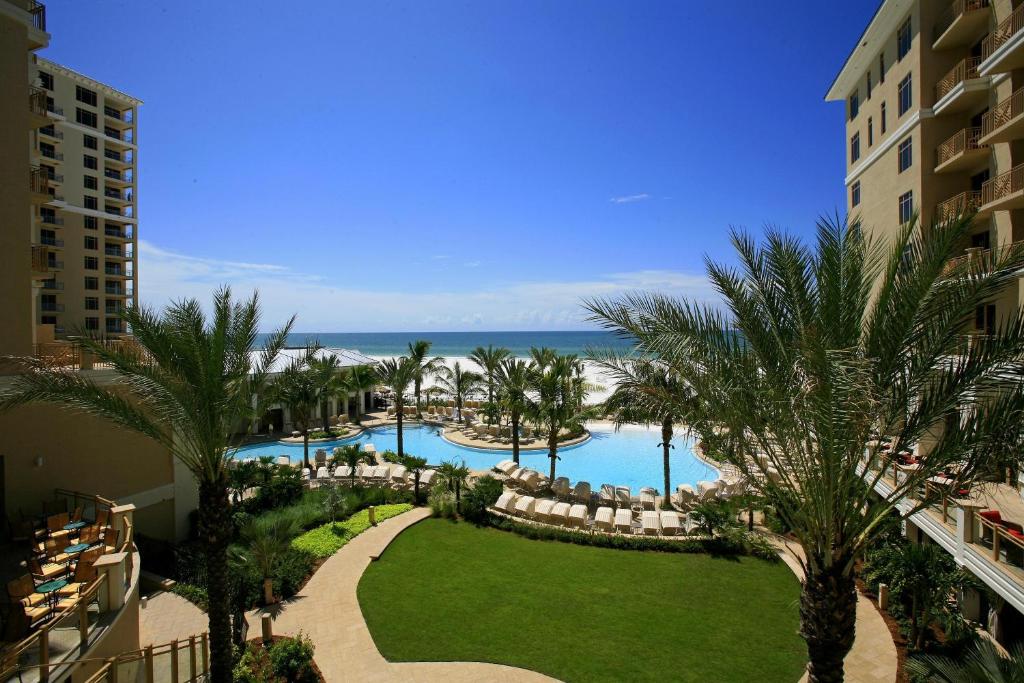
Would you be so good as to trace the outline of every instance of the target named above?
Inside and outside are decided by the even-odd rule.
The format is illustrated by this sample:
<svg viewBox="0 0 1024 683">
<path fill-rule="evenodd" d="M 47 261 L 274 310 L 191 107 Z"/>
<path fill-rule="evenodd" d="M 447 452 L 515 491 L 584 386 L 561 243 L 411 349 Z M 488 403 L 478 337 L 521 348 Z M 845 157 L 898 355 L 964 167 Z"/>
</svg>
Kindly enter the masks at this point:
<svg viewBox="0 0 1024 683">
<path fill-rule="evenodd" d="M 850 563 L 852 564 L 852 563 Z M 830 569 L 809 572 L 800 595 L 800 635 L 807 643 L 809 683 L 842 683 L 843 659 L 853 647 L 857 591 L 848 563 L 835 558 Z"/>
</svg>

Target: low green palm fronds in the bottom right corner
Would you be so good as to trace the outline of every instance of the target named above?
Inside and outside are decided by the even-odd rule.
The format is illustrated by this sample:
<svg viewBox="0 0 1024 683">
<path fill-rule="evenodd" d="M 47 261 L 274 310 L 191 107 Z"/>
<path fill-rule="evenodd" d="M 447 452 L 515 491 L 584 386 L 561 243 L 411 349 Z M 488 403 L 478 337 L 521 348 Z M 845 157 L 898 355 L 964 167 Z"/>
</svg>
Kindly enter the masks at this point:
<svg viewBox="0 0 1024 683">
<path fill-rule="evenodd" d="M 906 671 L 926 683 L 1016 683 L 1024 680 L 1024 643 L 1004 656 L 995 643 L 978 638 L 966 654 L 955 659 L 920 654 L 906 660 Z"/>
</svg>

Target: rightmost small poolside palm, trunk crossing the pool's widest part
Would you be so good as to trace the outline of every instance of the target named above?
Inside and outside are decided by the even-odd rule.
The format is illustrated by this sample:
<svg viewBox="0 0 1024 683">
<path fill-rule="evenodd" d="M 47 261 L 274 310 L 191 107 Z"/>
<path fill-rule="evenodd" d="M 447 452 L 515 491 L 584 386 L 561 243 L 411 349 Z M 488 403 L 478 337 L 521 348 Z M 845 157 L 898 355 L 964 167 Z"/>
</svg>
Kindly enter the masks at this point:
<svg viewBox="0 0 1024 683">
<path fill-rule="evenodd" d="M 615 428 L 624 424 L 658 424 L 662 427 L 665 497 L 662 506 L 672 509 L 672 476 L 669 456 L 675 446 L 675 426 L 685 419 L 675 397 L 685 396 L 689 388 L 679 381 L 672 369 L 651 358 L 627 356 L 615 351 L 592 354 L 593 360 L 615 380 L 615 389 L 604 401 L 604 410 L 614 415 Z M 691 394 L 692 397 L 692 394 Z"/>
</svg>

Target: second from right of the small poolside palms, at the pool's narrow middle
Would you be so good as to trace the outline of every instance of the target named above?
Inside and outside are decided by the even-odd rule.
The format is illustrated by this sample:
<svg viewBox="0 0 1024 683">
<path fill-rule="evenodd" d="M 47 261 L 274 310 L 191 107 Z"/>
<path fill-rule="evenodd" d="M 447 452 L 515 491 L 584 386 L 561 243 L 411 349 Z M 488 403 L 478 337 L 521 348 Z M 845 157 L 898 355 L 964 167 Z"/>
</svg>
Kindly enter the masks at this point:
<svg viewBox="0 0 1024 683">
<path fill-rule="evenodd" d="M 530 354 L 535 361 L 530 368 L 529 388 L 536 397 L 530 399 L 528 413 L 548 432 L 549 476 L 554 481 L 555 462 L 559 459 L 558 437 L 562 429 L 575 428 L 583 423 L 585 416 L 580 408 L 587 385 L 578 372 L 580 359 L 575 355 L 558 355 L 547 349 L 534 349 Z"/>
</svg>

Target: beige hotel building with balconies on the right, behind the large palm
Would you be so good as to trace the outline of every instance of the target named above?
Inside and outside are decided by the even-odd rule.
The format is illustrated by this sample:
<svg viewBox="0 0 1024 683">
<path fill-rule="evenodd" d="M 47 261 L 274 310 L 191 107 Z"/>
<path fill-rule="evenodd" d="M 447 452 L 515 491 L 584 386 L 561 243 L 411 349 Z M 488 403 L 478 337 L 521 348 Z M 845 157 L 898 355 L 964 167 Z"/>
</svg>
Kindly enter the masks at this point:
<svg viewBox="0 0 1024 683">
<path fill-rule="evenodd" d="M 956 258 L 1024 240 L 1024 2 L 885 0 L 825 99 L 845 103 L 847 207 L 868 233 L 891 238 L 915 212 L 927 226 L 973 210 Z M 965 332 L 990 333 L 1022 301 L 1024 278 Z M 888 496 L 892 483 L 876 488 Z M 1024 641 L 1020 489 L 989 482 L 906 524 L 985 584 L 965 590 L 961 607 L 1008 646 Z"/>
</svg>

